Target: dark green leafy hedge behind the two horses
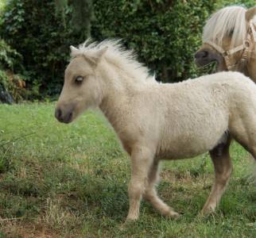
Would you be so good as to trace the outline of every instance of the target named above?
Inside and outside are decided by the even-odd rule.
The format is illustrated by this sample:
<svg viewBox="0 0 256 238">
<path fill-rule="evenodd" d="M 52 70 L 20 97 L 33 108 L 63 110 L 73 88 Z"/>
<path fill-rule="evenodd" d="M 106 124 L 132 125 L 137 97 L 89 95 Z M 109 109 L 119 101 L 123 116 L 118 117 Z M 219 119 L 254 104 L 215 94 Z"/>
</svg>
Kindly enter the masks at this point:
<svg viewBox="0 0 256 238">
<path fill-rule="evenodd" d="M 2 1 L 2 3 L 5 1 Z M 27 99 L 59 94 L 69 45 L 88 36 L 95 40 L 122 38 L 127 48 L 157 75 L 177 82 L 200 75 L 193 54 L 200 47 L 209 14 L 223 6 L 254 1 L 170 0 L 9 0 L 0 9 L 0 39 L 17 52 L 15 67 L 1 68 L 20 75 Z M 4 52 L 1 49 L 0 55 Z M 0 68 L 0 70 L 1 70 Z M 3 75 L 3 74 L 2 74 Z M 8 78 L 8 77 L 7 77 Z M 3 77 L 0 82 L 3 82 Z M 5 79 L 6 81 L 6 79 Z M 7 80 L 9 82 L 11 80 Z M 10 86 L 6 86 L 8 90 Z"/>
</svg>

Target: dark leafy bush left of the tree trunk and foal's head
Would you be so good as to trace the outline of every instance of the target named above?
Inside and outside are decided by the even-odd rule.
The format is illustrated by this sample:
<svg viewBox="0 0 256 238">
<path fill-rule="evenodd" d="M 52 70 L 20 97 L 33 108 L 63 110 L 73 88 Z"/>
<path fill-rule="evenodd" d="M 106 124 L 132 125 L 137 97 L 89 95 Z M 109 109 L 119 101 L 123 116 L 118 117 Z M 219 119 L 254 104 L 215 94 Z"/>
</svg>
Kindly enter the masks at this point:
<svg viewBox="0 0 256 238">
<path fill-rule="evenodd" d="M 24 56 L 27 83 L 56 93 L 68 59 L 68 29 L 54 1 L 11 0 L 2 16 L 1 33 Z"/>
</svg>

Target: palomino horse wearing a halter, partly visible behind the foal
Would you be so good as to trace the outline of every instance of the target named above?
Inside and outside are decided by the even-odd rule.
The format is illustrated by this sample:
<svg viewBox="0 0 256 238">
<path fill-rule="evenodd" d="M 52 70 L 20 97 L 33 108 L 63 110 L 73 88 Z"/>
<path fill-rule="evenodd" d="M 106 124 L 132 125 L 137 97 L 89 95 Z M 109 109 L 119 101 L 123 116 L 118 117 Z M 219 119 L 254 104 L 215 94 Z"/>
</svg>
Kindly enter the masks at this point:
<svg viewBox="0 0 256 238">
<path fill-rule="evenodd" d="M 256 83 L 256 7 L 227 6 L 204 26 L 196 63 L 217 62 L 217 71 L 240 71 Z"/>
</svg>

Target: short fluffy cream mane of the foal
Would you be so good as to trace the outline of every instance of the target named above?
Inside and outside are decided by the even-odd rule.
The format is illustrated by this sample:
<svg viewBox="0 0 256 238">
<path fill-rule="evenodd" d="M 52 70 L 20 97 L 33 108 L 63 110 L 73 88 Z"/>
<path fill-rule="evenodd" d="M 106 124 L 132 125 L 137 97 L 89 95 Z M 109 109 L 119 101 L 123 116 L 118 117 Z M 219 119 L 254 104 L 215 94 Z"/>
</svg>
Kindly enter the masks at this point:
<svg viewBox="0 0 256 238">
<path fill-rule="evenodd" d="M 100 49 L 107 47 L 107 52 L 104 53 L 105 59 L 114 64 L 120 71 L 126 71 L 130 77 L 138 79 L 154 79 L 149 75 L 149 69 L 137 61 L 137 55 L 133 50 L 126 50 L 121 40 L 103 40 L 100 43 L 92 42 L 91 39 L 86 40 L 83 44 L 80 44 L 78 51 L 72 53 L 72 57 L 93 55 L 93 52 L 97 52 Z"/>
</svg>

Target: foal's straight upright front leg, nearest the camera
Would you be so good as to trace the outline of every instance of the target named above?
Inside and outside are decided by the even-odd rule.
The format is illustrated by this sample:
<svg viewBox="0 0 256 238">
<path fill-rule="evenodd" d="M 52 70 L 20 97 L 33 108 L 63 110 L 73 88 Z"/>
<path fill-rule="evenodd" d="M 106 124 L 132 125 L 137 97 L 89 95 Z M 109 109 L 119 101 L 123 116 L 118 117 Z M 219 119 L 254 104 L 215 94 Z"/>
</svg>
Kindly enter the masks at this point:
<svg viewBox="0 0 256 238">
<path fill-rule="evenodd" d="M 149 169 L 153 163 L 153 152 L 149 148 L 134 148 L 131 154 L 131 178 L 128 188 L 130 209 L 126 221 L 135 221 L 139 216 L 140 202 L 145 192 Z"/>
</svg>

